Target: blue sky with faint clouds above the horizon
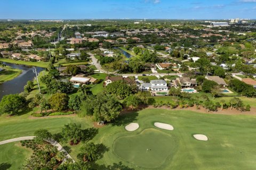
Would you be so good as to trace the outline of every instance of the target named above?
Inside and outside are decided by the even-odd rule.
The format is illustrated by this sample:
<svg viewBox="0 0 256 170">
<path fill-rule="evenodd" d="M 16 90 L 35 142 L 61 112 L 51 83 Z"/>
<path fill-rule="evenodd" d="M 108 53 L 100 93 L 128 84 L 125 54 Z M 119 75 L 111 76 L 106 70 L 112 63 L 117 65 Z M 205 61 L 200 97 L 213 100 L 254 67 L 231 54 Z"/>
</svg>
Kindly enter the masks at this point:
<svg viewBox="0 0 256 170">
<path fill-rule="evenodd" d="M 0 0 L 1 19 L 256 18 L 256 0 Z"/>
</svg>

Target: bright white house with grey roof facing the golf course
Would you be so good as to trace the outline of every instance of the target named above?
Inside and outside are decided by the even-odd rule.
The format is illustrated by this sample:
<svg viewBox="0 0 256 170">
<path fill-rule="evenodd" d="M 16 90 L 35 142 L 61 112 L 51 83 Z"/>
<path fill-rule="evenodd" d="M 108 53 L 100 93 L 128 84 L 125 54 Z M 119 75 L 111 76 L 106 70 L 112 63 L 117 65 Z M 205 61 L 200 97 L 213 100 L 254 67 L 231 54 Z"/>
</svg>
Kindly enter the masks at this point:
<svg viewBox="0 0 256 170">
<path fill-rule="evenodd" d="M 141 89 L 151 91 L 168 91 L 167 82 L 165 80 L 151 80 L 150 83 L 142 83 Z"/>
</svg>

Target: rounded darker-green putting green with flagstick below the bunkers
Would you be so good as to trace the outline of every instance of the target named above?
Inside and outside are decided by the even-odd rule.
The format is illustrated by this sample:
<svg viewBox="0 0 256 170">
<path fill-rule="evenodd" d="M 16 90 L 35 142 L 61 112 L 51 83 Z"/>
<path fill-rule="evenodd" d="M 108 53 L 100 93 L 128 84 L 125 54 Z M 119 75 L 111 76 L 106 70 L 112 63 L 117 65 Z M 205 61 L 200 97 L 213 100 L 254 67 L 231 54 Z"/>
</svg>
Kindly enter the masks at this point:
<svg viewBox="0 0 256 170">
<path fill-rule="evenodd" d="M 126 135 L 115 140 L 115 154 L 134 165 L 159 168 L 171 159 L 177 146 L 174 136 L 157 129 L 145 129 L 139 134 Z"/>
</svg>

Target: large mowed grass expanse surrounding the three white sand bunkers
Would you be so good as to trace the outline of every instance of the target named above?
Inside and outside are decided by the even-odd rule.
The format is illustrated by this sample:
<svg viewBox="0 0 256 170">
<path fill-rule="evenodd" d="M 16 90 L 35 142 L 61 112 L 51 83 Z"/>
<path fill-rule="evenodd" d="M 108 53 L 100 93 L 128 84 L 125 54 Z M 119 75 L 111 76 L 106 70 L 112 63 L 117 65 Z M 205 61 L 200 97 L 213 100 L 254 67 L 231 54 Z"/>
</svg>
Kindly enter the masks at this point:
<svg viewBox="0 0 256 170">
<path fill-rule="evenodd" d="M 140 128 L 134 132 L 126 131 L 124 126 L 131 122 L 138 122 Z M 154 122 L 171 124 L 174 130 L 166 131 L 155 128 Z M 141 136 L 147 129 L 157 129 L 161 131 L 159 133 L 171 135 L 172 139 L 167 136 L 158 138 L 152 133 L 147 133 L 145 137 Z M 198 141 L 193 138 L 193 134 L 205 134 L 209 141 Z M 166 138 L 169 140 L 165 140 Z M 97 161 L 101 165 L 122 162 L 134 169 L 249 170 L 256 167 L 255 138 L 255 116 L 144 109 L 137 113 L 124 115 L 115 125 L 101 128 L 93 141 L 103 143 L 109 148 L 104 157 Z M 146 146 L 147 148 L 151 146 L 151 141 L 148 140 L 155 142 L 156 146 L 153 149 L 158 148 L 162 151 L 155 152 L 154 158 L 160 157 L 163 162 L 145 156 Z M 164 149 L 166 151 L 163 151 Z M 164 160 L 166 152 L 170 155 Z M 151 162 L 155 162 L 154 167 Z"/>
</svg>

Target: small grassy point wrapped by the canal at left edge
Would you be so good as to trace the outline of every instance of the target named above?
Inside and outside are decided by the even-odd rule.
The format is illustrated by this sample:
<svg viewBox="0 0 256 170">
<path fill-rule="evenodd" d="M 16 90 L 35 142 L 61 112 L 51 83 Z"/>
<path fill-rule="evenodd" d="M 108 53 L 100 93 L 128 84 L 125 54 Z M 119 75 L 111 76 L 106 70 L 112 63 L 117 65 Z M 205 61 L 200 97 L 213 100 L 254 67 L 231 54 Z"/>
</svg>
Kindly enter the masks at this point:
<svg viewBox="0 0 256 170">
<path fill-rule="evenodd" d="M 3 71 L 0 71 L 0 84 L 5 81 L 10 81 L 22 73 L 19 69 L 13 69 L 12 67 L 5 66 Z"/>
</svg>

